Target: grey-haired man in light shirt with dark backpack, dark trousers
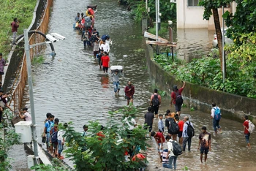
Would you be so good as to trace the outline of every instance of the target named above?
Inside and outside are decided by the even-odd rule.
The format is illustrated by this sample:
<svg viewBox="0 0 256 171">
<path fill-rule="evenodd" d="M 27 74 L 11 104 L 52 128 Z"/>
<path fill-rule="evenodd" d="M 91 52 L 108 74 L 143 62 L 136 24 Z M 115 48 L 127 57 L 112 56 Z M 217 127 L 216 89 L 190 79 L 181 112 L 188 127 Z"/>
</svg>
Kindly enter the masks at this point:
<svg viewBox="0 0 256 171">
<path fill-rule="evenodd" d="M 182 132 L 182 151 L 185 151 L 186 145 L 188 145 L 188 149 L 190 151 L 191 147 L 191 140 L 192 137 L 194 137 L 195 130 L 193 124 L 189 121 L 189 117 L 184 117 L 184 126 L 183 126 L 183 132 Z"/>
</svg>

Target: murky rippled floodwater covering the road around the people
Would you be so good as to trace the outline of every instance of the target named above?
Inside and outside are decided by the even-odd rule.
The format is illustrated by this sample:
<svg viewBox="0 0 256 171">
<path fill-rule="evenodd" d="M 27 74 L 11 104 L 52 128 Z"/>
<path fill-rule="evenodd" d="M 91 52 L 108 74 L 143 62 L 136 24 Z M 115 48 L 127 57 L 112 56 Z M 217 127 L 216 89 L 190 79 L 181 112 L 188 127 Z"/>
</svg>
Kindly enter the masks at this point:
<svg viewBox="0 0 256 171">
<path fill-rule="evenodd" d="M 85 12 L 88 4 L 98 5 L 95 26 L 99 34 L 109 34 L 113 40 L 113 45 L 110 47 L 110 65 L 124 66 L 120 96 L 114 95 L 111 78 L 103 74 L 97 61 L 92 57 L 92 47 L 84 49 L 79 31 L 74 31 L 72 28 L 76 13 Z M 65 2 L 56 0 L 53 1 L 52 9 L 48 32 L 59 33 L 66 39 L 54 44 L 57 53 L 55 57 L 49 56 L 50 47 L 46 48 L 45 62 L 49 62 L 49 65 L 34 68 L 34 105 L 39 142 L 46 113 L 52 113 L 61 123 L 72 121 L 78 132 L 81 132 L 83 124 L 89 121 L 99 120 L 104 124 L 109 110 L 127 104 L 123 88 L 128 80 L 132 80 L 135 86 L 135 106 L 140 109 L 140 117 L 137 121 L 143 123 L 143 115 L 146 113 L 154 86 L 146 69 L 145 54 L 140 52 L 144 48 L 140 25 L 129 18 L 126 7 L 118 6 L 117 1 L 114 0 L 83 1 L 83 4 L 78 0 Z M 186 35 L 184 37 L 191 39 L 187 42 L 197 42 L 197 44 L 186 43 L 183 45 L 184 49 L 187 49 L 188 45 L 191 49 L 200 49 L 200 47 L 211 49 L 211 36 L 209 36 L 211 34 L 206 34 L 205 41 L 208 47 L 205 47 L 206 42 L 201 41 L 203 38 L 195 40 L 195 34 L 200 34 L 200 29 L 192 33 L 192 37 Z M 169 97 L 165 97 L 159 113 L 164 114 L 169 108 L 169 103 Z M 26 106 L 29 107 L 29 102 L 26 102 Z M 185 166 L 189 167 L 189 170 L 256 170 L 255 137 L 252 134 L 252 150 L 249 151 L 246 149 L 242 124 L 224 118 L 221 121 L 223 134 L 213 136 L 212 151 L 208 154 L 207 164 L 200 164 L 197 136 L 202 126 L 207 126 L 212 133 L 209 114 L 200 111 L 191 112 L 189 108 L 184 108 L 182 113 L 192 115 L 196 135 L 192 139 L 192 151 L 178 156 L 178 170 Z M 157 126 L 157 121 L 155 119 L 154 126 Z M 154 130 L 157 128 L 154 127 Z M 151 140 L 150 144 L 154 148 L 154 140 Z M 17 153 L 24 156 L 23 152 L 19 152 L 22 148 L 21 145 L 14 147 L 10 157 L 19 161 L 15 156 Z M 161 168 L 157 151 L 148 151 L 148 161 L 151 170 Z M 26 161 L 19 161 L 18 164 L 14 162 L 13 165 L 14 170 L 21 170 L 21 167 L 26 167 Z"/>
</svg>

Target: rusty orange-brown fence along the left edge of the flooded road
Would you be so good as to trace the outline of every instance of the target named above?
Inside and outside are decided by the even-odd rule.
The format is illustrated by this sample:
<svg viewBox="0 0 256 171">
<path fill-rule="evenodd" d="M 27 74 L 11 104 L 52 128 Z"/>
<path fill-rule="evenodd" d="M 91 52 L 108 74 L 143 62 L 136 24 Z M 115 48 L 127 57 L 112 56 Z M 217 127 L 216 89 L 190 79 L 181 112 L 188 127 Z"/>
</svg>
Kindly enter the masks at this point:
<svg viewBox="0 0 256 171">
<path fill-rule="evenodd" d="M 39 26 L 37 26 L 37 29 L 36 29 L 37 31 L 41 31 L 42 33 L 46 33 L 48 31 L 48 23 L 50 19 L 50 7 L 52 6 L 52 4 L 53 4 L 53 0 L 46 1 L 44 14 L 42 15 L 42 18 L 39 18 L 41 20 L 41 23 L 39 24 Z M 35 20 L 34 22 L 37 22 L 37 20 Z M 43 41 L 45 41 L 45 38 L 39 34 L 31 34 L 31 36 L 29 37 L 29 45 L 43 42 Z M 43 48 L 45 48 L 45 45 L 39 45 L 31 48 L 30 59 L 33 60 L 33 58 L 36 58 Z M 14 89 L 10 90 L 10 93 L 12 93 L 12 99 L 10 100 L 10 104 L 12 104 L 12 106 L 14 107 L 14 110 L 20 110 L 21 107 L 23 107 L 23 96 L 24 96 L 27 78 L 28 78 L 28 74 L 27 74 L 27 68 L 26 68 L 26 55 L 24 53 L 23 61 L 20 69 L 20 75 L 18 76 L 18 82 L 14 83 L 15 86 L 12 86 Z"/>
</svg>

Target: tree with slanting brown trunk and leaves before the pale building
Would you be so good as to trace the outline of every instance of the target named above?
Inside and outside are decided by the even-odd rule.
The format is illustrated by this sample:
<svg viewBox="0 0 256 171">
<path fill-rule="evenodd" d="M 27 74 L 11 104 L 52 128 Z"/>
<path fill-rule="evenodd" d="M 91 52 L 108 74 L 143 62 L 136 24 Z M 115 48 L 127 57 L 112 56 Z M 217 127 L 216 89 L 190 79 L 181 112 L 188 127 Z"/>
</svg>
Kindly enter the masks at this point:
<svg viewBox="0 0 256 171">
<path fill-rule="evenodd" d="M 214 16 L 214 26 L 217 34 L 218 47 L 219 47 L 219 60 L 222 69 L 222 31 L 219 23 L 218 8 L 229 4 L 233 0 L 200 0 L 199 5 L 205 8 L 203 12 L 203 19 L 209 20 L 211 15 Z"/>
</svg>

